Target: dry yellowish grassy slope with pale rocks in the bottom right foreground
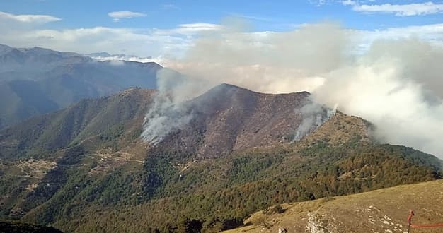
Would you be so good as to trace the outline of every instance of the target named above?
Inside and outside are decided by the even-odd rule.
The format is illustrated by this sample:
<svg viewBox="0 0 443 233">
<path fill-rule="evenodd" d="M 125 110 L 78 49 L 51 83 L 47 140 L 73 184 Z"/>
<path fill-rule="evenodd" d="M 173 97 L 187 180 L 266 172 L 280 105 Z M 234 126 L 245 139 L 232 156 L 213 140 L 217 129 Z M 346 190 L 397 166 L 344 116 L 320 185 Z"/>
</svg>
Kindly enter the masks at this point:
<svg viewBox="0 0 443 233">
<path fill-rule="evenodd" d="M 443 181 L 408 184 L 335 198 L 281 205 L 283 213 L 253 214 L 246 227 L 226 232 L 408 232 L 413 224 L 443 223 Z M 443 227 L 411 228 L 410 232 L 443 232 Z"/>
</svg>

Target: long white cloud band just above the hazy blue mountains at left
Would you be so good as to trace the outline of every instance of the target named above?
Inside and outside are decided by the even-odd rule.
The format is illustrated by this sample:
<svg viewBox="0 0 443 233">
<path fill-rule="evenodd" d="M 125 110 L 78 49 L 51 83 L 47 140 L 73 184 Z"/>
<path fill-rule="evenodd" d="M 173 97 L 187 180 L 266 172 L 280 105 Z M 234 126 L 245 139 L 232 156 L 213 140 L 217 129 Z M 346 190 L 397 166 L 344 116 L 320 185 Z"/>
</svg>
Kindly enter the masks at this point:
<svg viewBox="0 0 443 233">
<path fill-rule="evenodd" d="M 180 35 L 157 35 L 152 30 L 132 28 L 76 28 L 67 30 L 30 30 L 1 28 L 0 44 L 13 47 L 47 47 L 59 51 L 110 52 L 135 56 L 179 56 L 191 43 Z"/>
</svg>

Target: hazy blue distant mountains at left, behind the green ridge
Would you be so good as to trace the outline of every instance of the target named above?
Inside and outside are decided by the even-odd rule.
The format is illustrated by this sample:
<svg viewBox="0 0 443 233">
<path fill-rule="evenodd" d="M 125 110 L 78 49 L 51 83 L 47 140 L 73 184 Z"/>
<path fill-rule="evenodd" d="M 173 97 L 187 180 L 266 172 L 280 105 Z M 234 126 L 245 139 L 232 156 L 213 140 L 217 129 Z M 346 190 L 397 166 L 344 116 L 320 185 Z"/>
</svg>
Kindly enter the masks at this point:
<svg viewBox="0 0 443 233">
<path fill-rule="evenodd" d="M 0 128 L 88 97 L 156 88 L 155 63 L 96 61 L 40 47 L 0 45 Z"/>
</svg>

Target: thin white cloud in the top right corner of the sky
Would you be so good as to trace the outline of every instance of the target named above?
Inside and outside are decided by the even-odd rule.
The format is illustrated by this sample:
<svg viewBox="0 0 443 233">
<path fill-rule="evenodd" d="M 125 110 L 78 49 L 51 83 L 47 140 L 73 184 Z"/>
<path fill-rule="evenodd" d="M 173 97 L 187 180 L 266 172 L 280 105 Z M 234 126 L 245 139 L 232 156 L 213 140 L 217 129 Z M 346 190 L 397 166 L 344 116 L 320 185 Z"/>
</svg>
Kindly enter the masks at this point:
<svg viewBox="0 0 443 233">
<path fill-rule="evenodd" d="M 346 2 L 350 3 L 350 1 Z M 393 13 L 396 16 L 422 16 L 434 13 L 442 13 L 443 4 L 434 4 L 432 1 L 427 1 L 420 4 L 353 4 L 352 10 L 363 13 Z"/>
</svg>

